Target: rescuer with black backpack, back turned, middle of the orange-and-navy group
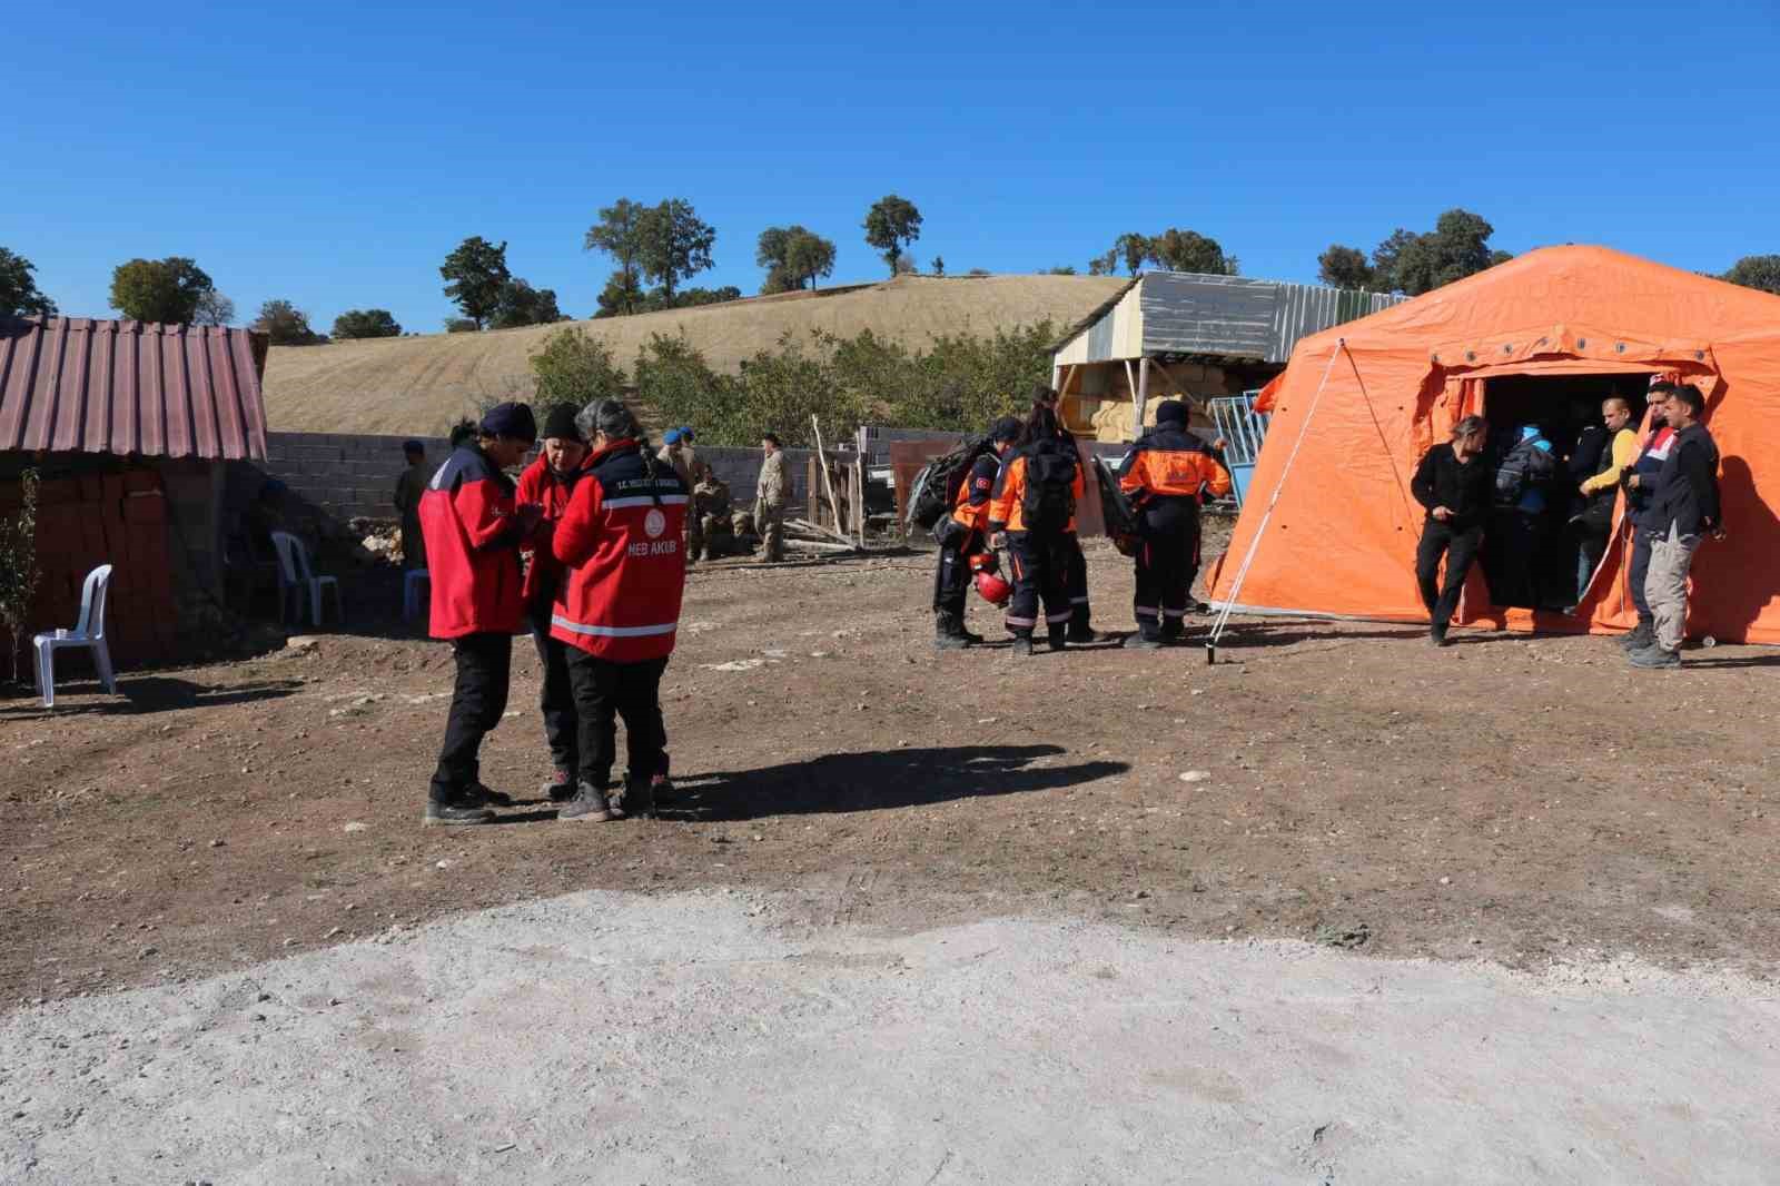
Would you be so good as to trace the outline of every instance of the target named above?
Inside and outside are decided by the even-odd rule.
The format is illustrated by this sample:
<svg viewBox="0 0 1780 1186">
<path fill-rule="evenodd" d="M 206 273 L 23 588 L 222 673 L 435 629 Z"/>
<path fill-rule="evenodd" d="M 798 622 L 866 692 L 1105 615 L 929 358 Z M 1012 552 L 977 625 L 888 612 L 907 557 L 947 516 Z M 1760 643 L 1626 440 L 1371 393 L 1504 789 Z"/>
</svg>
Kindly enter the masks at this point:
<svg viewBox="0 0 1780 1186">
<path fill-rule="evenodd" d="M 1068 593 L 1075 506 L 1082 500 L 1082 465 L 1075 449 L 1059 435 L 1057 415 L 1034 404 L 1022 445 L 1007 454 L 990 495 L 990 547 L 1007 548 L 1013 597 L 1007 600 L 1007 632 L 1013 654 L 1032 654 L 1032 629 L 1040 602 L 1052 650 L 1068 643 L 1072 605 Z"/>
</svg>

